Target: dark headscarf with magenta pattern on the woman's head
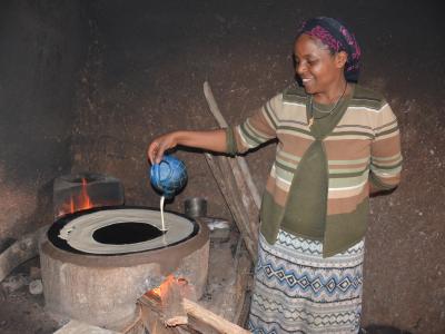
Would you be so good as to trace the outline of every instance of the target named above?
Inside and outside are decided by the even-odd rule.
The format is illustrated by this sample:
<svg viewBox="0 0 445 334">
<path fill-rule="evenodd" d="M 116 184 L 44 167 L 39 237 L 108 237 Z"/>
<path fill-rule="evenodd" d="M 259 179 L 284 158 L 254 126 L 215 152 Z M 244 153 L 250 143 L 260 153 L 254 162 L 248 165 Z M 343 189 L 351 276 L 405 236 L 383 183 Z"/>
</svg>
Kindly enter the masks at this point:
<svg viewBox="0 0 445 334">
<path fill-rule="evenodd" d="M 318 17 L 303 22 L 297 38 L 303 33 L 319 39 L 333 52 L 345 51 L 345 78 L 347 81 L 357 82 L 362 51 L 354 33 L 345 24 L 333 18 Z"/>
</svg>

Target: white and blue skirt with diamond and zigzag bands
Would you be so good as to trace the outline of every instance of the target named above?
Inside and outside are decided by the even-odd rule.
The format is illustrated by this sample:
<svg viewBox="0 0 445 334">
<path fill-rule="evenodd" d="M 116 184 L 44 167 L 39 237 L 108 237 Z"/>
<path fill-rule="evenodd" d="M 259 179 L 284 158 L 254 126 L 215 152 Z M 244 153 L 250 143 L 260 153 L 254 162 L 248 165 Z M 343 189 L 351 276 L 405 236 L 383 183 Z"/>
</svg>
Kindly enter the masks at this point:
<svg viewBox="0 0 445 334">
<path fill-rule="evenodd" d="M 364 240 L 323 258 L 320 242 L 260 235 L 249 330 L 255 334 L 358 333 Z"/>
</svg>

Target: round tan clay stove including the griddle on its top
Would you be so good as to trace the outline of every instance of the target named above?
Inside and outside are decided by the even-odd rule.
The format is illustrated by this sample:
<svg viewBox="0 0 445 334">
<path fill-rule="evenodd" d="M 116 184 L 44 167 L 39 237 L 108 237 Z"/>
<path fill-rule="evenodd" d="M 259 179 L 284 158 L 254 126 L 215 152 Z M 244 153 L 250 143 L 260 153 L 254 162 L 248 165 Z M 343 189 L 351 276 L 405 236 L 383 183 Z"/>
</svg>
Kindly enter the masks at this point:
<svg viewBox="0 0 445 334">
<path fill-rule="evenodd" d="M 47 308 L 97 326 L 121 330 L 136 301 L 168 275 L 182 277 L 199 298 L 208 271 L 206 224 L 146 207 L 107 206 L 57 219 L 40 243 Z"/>
</svg>

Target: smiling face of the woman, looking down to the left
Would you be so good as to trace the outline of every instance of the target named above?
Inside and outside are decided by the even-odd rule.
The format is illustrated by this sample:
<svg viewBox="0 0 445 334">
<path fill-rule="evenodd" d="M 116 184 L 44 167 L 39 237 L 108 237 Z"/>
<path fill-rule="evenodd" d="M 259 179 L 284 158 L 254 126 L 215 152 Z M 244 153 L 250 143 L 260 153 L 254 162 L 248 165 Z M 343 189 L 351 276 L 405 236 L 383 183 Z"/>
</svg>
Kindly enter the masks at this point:
<svg viewBox="0 0 445 334">
<path fill-rule="evenodd" d="M 344 82 L 343 68 L 346 52 L 332 55 L 319 40 L 301 35 L 294 48 L 296 72 L 307 94 L 327 94 Z M 346 56 L 347 57 L 347 56 Z"/>
</svg>

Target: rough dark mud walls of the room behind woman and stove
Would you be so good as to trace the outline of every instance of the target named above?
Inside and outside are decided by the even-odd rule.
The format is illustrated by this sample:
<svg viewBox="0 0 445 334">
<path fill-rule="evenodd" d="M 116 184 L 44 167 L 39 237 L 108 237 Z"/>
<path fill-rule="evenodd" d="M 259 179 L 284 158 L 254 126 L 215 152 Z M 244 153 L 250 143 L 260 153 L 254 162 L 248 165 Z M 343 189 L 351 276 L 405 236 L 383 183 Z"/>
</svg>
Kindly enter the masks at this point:
<svg viewBox="0 0 445 334">
<path fill-rule="evenodd" d="M 398 116 L 405 157 L 400 187 L 372 200 L 364 325 L 444 333 L 445 21 L 438 1 L 157 2 L 92 1 L 96 38 L 75 114 L 69 101 L 81 53 L 82 30 L 73 19 L 80 2 L 2 2 L 0 234 L 31 228 L 37 195 L 71 167 L 71 158 L 73 171 L 120 178 L 128 204 L 157 206 L 146 146 L 165 131 L 216 126 L 204 80 L 227 120 L 241 121 L 291 82 L 301 20 L 339 17 L 363 47 L 360 84 L 382 91 Z M 167 207 L 181 212 L 186 197 L 204 196 L 209 215 L 229 217 L 204 157 L 177 155 L 189 184 Z M 261 190 L 273 156 L 273 145 L 248 156 Z"/>
</svg>

